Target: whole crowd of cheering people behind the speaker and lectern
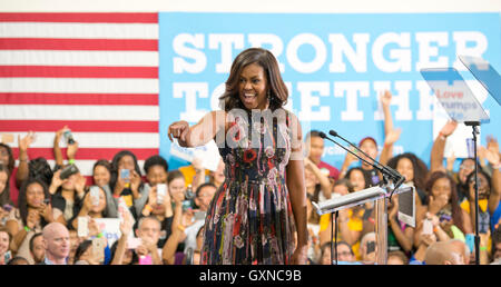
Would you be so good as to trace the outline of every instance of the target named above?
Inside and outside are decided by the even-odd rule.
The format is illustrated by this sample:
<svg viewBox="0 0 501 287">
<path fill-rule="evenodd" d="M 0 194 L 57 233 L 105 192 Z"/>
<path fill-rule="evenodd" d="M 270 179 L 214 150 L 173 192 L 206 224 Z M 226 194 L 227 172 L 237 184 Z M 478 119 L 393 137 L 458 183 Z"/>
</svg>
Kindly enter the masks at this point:
<svg viewBox="0 0 501 287">
<path fill-rule="evenodd" d="M 478 165 L 480 264 L 501 264 L 501 175 L 498 141 L 488 137 L 480 159 L 445 160 L 446 138 L 456 122 L 448 122 L 434 139 L 430 167 L 416 155 L 393 155 L 402 130 L 391 120 L 392 95 L 381 97 L 385 137 L 381 152 L 371 137 L 360 148 L 405 177 L 415 189 L 415 227 L 399 220 L 397 200 L 389 205 L 387 264 L 474 264 L 474 167 Z M 225 164 L 204 169 L 202 160 L 169 170 L 154 155 L 138 165 L 134 152 L 122 150 L 111 160 L 97 160 L 91 185 L 78 170 L 78 142 L 68 144 L 65 157 L 56 132 L 56 166 L 29 159 L 33 133 L 19 139 L 19 156 L 0 144 L 0 265 L 190 265 L 200 261 L 206 211 L 225 182 Z M 341 167 L 322 160 L 324 140 L 318 131 L 305 137 L 304 176 L 307 197 L 308 263 L 332 264 L 332 230 L 338 264 L 375 264 L 375 210 L 371 204 L 340 211 L 338 222 L 318 216 L 312 202 L 357 192 L 382 181 L 371 165 L 346 154 Z M 393 198 L 397 198 L 394 195 Z M 104 218 L 114 218 L 119 237 L 110 240 Z"/>
</svg>

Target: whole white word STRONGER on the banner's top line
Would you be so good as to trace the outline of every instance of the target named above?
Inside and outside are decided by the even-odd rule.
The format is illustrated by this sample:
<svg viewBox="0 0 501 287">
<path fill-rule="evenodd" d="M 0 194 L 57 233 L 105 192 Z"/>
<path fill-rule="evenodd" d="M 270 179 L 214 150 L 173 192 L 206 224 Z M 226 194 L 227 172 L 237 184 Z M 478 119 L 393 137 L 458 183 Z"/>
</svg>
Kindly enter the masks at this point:
<svg viewBox="0 0 501 287">
<path fill-rule="evenodd" d="M 247 39 L 246 39 L 247 37 Z M 325 39 L 326 37 L 326 39 Z M 412 70 L 412 50 L 410 32 L 385 32 L 381 33 L 371 42 L 369 33 L 353 33 L 352 43 L 348 36 L 331 33 L 317 36 L 314 33 L 299 33 L 294 36 L 288 43 L 274 33 L 209 33 L 208 48 L 220 50 L 220 61 L 215 63 L 217 73 L 227 73 L 235 57 L 235 50 L 245 47 L 263 47 L 269 44 L 268 50 L 276 58 L 282 56 L 284 47 L 286 50 L 287 63 L 297 72 L 313 73 L 322 69 L 327 60 L 326 44 L 331 44 L 332 62 L 328 65 L 330 72 L 345 72 L 345 57 L 356 72 L 367 71 L 367 53 L 374 66 L 383 72 L 407 72 Z M 449 57 L 441 56 L 441 51 L 450 46 L 450 32 L 415 32 L 418 52 L 415 59 L 415 70 L 422 68 L 448 67 Z M 454 55 L 469 55 L 482 57 L 488 48 L 488 39 L 480 31 L 458 31 L 452 32 Z M 247 41 L 245 41 L 247 40 Z M 372 47 L 370 44 L 372 43 Z M 314 58 L 311 61 L 299 59 L 298 49 L 304 46 L 314 49 Z M 396 46 L 396 47 L 394 47 Z M 173 39 L 173 49 L 176 53 L 173 57 L 173 69 L 175 73 L 199 73 L 207 68 L 207 56 L 205 55 L 205 34 L 203 33 L 179 33 Z M 442 49 L 439 49 L 442 48 Z M 389 50 L 387 58 L 385 51 Z M 436 59 L 435 59 L 436 58 Z M 285 71 L 285 63 L 278 62 L 282 72 Z M 454 67 L 464 69 L 459 61 L 454 61 Z"/>
</svg>

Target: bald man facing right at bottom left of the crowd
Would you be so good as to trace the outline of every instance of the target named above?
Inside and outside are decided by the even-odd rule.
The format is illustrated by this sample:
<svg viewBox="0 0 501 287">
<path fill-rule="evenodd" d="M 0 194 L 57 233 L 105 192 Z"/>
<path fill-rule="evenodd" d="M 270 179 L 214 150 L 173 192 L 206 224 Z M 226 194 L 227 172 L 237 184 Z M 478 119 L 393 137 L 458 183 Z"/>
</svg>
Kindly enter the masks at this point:
<svg viewBox="0 0 501 287">
<path fill-rule="evenodd" d="M 51 222 L 43 227 L 43 246 L 46 258 L 42 265 L 66 265 L 70 251 L 69 231 L 59 222 Z"/>
</svg>

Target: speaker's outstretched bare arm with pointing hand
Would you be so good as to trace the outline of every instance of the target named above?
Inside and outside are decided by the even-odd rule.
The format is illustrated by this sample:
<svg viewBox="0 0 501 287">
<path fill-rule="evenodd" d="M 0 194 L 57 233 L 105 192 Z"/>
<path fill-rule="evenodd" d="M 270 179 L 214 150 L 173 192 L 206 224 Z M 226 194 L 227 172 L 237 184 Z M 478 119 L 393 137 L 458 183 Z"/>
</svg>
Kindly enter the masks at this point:
<svg viewBox="0 0 501 287">
<path fill-rule="evenodd" d="M 177 139 L 181 147 L 199 147 L 214 139 L 220 128 L 225 127 L 225 118 L 224 111 L 210 111 L 191 127 L 184 120 L 173 122 L 167 135 L 170 141 Z"/>
</svg>

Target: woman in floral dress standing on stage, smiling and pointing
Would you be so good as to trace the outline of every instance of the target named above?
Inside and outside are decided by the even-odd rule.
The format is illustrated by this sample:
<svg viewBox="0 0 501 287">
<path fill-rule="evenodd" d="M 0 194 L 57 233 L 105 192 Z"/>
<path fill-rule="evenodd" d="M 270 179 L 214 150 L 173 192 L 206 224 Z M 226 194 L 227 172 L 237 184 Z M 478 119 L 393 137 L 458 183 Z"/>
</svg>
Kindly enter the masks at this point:
<svg viewBox="0 0 501 287">
<path fill-rule="evenodd" d="M 170 140 L 197 147 L 215 140 L 225 182 L 205 221 L 203 264 L 306 264 L 306 190 L 302 131 L 283 109 L 288 97 L 275 57 L 250 48 L 232 65 L 224 109 L 189 127 L 169 126 Z"/>
</svg>

